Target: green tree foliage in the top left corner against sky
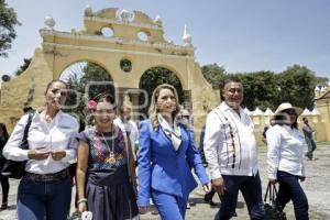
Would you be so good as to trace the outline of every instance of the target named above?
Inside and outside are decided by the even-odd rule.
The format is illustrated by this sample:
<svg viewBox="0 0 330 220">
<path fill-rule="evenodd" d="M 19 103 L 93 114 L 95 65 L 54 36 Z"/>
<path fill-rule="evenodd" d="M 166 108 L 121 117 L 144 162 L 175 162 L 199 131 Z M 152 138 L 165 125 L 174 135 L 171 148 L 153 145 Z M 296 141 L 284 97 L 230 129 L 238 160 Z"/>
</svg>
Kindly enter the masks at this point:
<svg viewBox="0 0 330 220">
<path fill-rule="evenodd" d="M 14 10 L 9 8 L 4 0 L 0 0 L 0 57 L 8 57 L 7 51 L 16 37 L 14 28 L 20 24 Z"/>
</svg>

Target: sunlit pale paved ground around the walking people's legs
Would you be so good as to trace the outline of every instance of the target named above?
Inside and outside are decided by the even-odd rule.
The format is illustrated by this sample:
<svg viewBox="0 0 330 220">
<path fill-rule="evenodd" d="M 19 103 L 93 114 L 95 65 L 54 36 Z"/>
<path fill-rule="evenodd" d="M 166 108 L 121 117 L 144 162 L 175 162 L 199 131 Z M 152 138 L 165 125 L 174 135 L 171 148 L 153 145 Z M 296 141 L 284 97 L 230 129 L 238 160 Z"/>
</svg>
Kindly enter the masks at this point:
<svg viewBox="0 0 330 220">
<path fill-rule="evenodd" d="M 266 150 L 265 147 L 258 148 L 258 161 L 260 161 L 260 172 L 261 178 L 263 182 L 263 188 L 265 189 L 267 184 L 266 178 Z M 326 220 L 330 219 L 330 145 L 329 144 L 318 144 L 316 152 L 316 161 L 305 161 L 306 163 L 306 174 L 307 178 L 302 183 L 302 187 L 306 190 L 309 205 L 310 205 L 310 219 L 312 220 Z M 0 211 L 0 220 L 15 220 L 15 194 L 18 182 L 10 180 L 10 197 L 9 197 L 9 209 Z M 0 194 L 1 195 L 1 194 Z M 202 190 L 197 188 L 191 195 L 190 200 L 195 201 L 196 206 L 187 210 L 187 220 L 208 220 L 213 219 L 215 213 L 218 211 L 218 208 L 210 208 L 202 200 Z M 1 195 L 2 196 L 2 195 Z M 219 202 L 219 199 L 217 200 Z M 74 211 L 74 209 L 73 209 Z M 293 212 L 292 204 L 285 209 L 288 219 L 295 219 Z M 239 198 L 239 207 L 237 209 L 238 217 L 233 218 L 237 220 L 246 220 L 248 211 L 246 206 L 243 202 L 243 199 Z M 142 220 L 155 220 L 160 219 L 158 215 L 146 213 L 143 215 Z"/>
</svg>

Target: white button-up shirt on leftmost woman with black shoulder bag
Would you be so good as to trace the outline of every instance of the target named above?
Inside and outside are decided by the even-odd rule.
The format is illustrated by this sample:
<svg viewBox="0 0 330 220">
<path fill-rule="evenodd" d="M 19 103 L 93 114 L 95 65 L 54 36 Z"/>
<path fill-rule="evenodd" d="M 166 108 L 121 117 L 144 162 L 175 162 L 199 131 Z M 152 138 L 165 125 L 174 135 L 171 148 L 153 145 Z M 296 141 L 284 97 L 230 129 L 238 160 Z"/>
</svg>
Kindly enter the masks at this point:
<svg viewBox="0 0 330 220">
<path fill-rule="evenodd" d="M 29 150 L 20 148 L 28 118 L 29 116 L 24 114 L 10 135 L 3 148 L 6 158 L 12 161 L 29 160 Z M 53 174 L 68 167 L 69 162 L 76 161 L 78 146 L 76 135 L 78 129 L 77 120 L 62 111 L 57 112 L 51 123 L 42 119 L 38 112 L 35 112 L 28 134 L 29 148 L 44 147 L 44 151 L 64 150 L 66 156 L 61 161 L 54 161 L 52 155 L 42 161 L 29 160 L 25 170 L 34 174 Z"/>
</svg>

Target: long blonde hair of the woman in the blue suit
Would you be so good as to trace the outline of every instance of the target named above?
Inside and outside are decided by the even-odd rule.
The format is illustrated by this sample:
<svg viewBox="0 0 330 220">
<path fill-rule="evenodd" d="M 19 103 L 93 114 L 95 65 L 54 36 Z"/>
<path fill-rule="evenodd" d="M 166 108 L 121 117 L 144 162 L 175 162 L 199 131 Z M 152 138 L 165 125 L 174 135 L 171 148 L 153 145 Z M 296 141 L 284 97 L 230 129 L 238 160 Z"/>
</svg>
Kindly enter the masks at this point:
<svg viewBox="0 0 330 220">
<path fill-rule="evenodd" d="M 175 117 L 180 112 L 180 106 L 178 103 L 178 96 L 177 96 L 176 89 L 169 84 L 161 84 L 160 86 L 157 86 L 154 89 L 152 98 L 151 98 L 151 105 L 148 107 L 148 118 L 152 122 L 152 125 L 153 125 L 154 130 L 157 130 L 158 127 L 160 127 L 160 122 L 158 122 L 158 119 L 157 119 L 157 113 L 160 111 L 158 108 L 157 108 L 157 99 L 160 97 L 160 94 L 161 94 L 162 89 L 169 89 L 174 94 L 175 101 L 176 101 L 176 108 L 172 113 L 172 118 L 175 119 Z"/>
</svg>

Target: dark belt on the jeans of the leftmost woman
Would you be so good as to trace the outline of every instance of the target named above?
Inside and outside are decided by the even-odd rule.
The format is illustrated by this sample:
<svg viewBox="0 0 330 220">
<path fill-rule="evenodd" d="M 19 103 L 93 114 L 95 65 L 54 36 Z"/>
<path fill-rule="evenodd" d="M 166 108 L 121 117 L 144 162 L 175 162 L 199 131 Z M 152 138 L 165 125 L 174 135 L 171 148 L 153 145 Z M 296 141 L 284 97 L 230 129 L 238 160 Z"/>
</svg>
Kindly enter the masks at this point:
<svg viewBox="0 0 330 220">
<path fill-rule="evenodd" d="M 23 179 L 34 180 L 34 182 L 58 182 L 65 179 L 69 176 L 69 170 L 67 168 L 54 173 L 54 174 L 33 174 L 25 172 Z"/>
</svg>

